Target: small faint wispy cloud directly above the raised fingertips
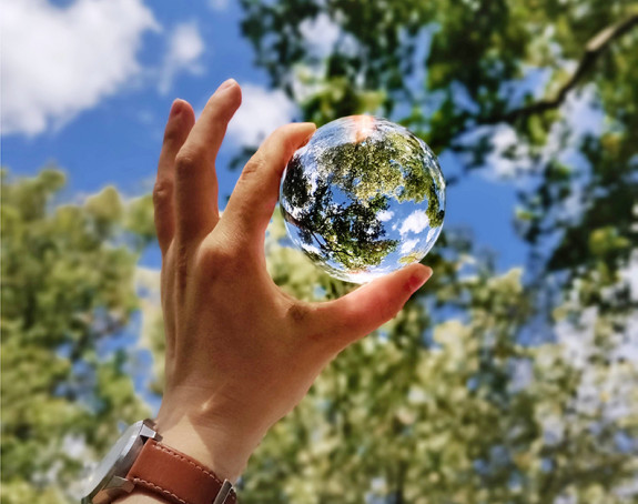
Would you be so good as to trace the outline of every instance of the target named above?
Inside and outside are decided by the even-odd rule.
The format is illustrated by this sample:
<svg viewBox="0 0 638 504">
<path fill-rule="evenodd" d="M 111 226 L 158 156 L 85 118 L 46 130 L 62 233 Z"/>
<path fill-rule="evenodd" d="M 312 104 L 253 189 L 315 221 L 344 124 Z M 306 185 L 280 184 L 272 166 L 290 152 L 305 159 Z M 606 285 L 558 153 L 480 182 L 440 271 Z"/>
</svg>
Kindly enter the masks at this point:
<svg viewBox="0 0 638 504">
<path fill-rule="evenodd" d="M 201 73 L 203 68 L 199 60 L 203 52 L 204 41 L 198 26 L 194 22 L 176 24 L 171 32 L 169 50 L 160 70 L 160 92 L 166 94 L 181 71 Z"/>
</svg>

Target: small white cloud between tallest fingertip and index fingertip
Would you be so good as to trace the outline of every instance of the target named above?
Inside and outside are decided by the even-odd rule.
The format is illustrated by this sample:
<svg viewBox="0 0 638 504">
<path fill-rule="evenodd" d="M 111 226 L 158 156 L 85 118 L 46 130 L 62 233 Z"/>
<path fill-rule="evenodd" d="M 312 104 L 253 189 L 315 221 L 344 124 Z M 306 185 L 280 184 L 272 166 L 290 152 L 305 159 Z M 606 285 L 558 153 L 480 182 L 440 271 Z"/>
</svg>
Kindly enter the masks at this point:
<svg viewBox="0 0 638 504">
<path fill-rule="evenodd" d="M 242 85 L 242 105 L 229 124 L 229 137 L 237 144 L 259 145 L 270 133 L 287 124 L 296 112 L 283 91 Z"/>
</svg>

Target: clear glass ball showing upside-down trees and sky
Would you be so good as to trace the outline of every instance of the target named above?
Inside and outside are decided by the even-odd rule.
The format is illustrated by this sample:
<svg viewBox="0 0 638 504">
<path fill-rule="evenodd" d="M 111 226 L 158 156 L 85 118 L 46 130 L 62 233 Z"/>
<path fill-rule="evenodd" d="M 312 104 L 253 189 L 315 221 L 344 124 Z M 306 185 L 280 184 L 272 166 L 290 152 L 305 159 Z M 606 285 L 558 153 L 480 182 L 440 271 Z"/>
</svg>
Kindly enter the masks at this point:
<svg viewBox="0 0 638 504">
<path fill-rule="evenodd" d="M 405 128 L 371 115 L 320 128 L 288 162 L 280 194 L 294 246 L 353 283 L 421 261 L 445 214 L 436 155 Z"/>
</svg>

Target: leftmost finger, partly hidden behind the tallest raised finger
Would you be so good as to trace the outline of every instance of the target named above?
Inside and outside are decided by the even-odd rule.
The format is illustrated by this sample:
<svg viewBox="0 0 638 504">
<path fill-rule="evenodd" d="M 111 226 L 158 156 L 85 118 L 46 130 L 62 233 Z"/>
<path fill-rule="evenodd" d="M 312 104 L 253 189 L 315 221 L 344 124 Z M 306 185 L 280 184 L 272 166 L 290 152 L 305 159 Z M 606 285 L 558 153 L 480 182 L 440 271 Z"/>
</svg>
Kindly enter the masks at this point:
<svg viewBox="0 0 638 504">
<path fill-rule="evenodd" d="M 164 130 L 164 142 L 158 163 L 158 178 L 153 188 L 155 229 L 162 253 L 165 253 L 175 232 L 173 188 L 175 184 L 175 155 L 184 144 L 193 124 L 195 113 L 184 100 L 175 100 L 171 107 Z"/>
</svg>

